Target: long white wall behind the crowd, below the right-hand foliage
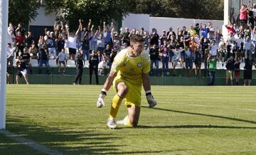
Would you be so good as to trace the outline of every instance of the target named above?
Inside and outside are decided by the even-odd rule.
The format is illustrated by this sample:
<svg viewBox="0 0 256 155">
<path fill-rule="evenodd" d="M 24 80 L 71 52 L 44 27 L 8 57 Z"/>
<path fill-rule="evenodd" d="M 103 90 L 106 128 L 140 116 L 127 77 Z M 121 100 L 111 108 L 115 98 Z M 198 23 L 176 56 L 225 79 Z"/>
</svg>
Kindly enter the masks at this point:
<svg viewBox="0 0 256 155">
<path fill-rule="evenodd" d="M 122 28 L 128 27 L 130 30 L 132 28 L 139 29 L 141 26 L 144 27 L 145 30 L 151 32 L 152 28 L 156 28 L 156 30 L 161 33 L 161 31 L 168 31 L 170 27 L 173 27 L 174 31 L 179 26 L 182 28 L 186 26 L 189 28 L 189 25 L 195 26 L 196 23 L 202 22 L 208 23 L 212 22 L 215 28 L 220 28 L 222 30 L 224 21 L 217 20 L 201 20 L 201 19 L 193 19 L 193 18 L 164 18 L 164 17 L 150 17 L 146 14 L 129 14 L 129 16 L 125 17 L 122 21 Z"/>
</svg>

